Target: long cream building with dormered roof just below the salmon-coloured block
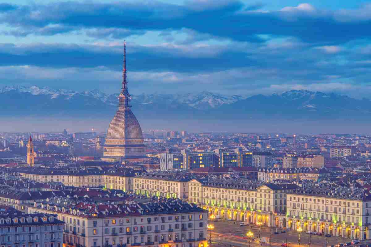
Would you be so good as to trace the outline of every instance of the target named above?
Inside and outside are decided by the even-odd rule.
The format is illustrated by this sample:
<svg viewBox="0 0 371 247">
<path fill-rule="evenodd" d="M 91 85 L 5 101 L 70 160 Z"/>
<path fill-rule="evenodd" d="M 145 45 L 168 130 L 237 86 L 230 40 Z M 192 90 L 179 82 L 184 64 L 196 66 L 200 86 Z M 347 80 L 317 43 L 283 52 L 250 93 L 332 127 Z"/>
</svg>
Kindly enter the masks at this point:
<svg viewBox="0 0 371 247">
<path fill-rule="evenodd" d="M 258 180 L 265 183 L 272 183 L 275 180 L 313 180 L 325 178 L 330 175 L 330 171 L 325 168 L 260 168 Z"/>
</svg>

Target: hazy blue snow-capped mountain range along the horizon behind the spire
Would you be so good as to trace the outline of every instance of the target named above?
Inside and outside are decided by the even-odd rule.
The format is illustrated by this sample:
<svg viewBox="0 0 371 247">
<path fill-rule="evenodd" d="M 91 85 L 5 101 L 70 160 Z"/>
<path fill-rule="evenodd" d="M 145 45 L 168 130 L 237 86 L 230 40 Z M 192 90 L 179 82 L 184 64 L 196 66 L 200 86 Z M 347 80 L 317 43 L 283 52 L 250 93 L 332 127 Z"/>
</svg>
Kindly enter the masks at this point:
<svg viewBox="0 0 371 247">
<path fill-rule="evenodd" d="M 99 90 L 76 92 L 48 87 L 3 87 L 0 89 L 0 112 L 4 115 L 63 113 L 111 116 L 117 109 L 118 95 Z M 166 119 L 277 119 L 368 117 L 369 99 L 353 99 L 335 93 L 290 90 L 264 96 L 223 95 L 203 91 L 184 94 L 132 95 L 133 111 L 142 117 Z M 30 111 L 33 109 L 33 111 Z M 37 111 L 35 111 L 37 109 Z M 105 116 L 106 116 L 105 115 Z"/>
</svg>

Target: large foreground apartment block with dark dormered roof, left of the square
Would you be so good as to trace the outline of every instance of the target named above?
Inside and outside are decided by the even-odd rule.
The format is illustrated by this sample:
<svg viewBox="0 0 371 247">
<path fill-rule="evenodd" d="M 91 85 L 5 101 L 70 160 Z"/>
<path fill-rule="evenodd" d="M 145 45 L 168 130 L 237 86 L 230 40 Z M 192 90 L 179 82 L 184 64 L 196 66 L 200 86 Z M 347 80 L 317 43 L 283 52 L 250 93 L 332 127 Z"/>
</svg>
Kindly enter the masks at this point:
<svg viewBox="0 0 371 247">
<path fill-rule="evenodd" d="M 30 212 L 66 222 L 66 247 L 206 247 L 207 211 L 178 199 L 123 205 L 35 203 Z"/>
</svg>

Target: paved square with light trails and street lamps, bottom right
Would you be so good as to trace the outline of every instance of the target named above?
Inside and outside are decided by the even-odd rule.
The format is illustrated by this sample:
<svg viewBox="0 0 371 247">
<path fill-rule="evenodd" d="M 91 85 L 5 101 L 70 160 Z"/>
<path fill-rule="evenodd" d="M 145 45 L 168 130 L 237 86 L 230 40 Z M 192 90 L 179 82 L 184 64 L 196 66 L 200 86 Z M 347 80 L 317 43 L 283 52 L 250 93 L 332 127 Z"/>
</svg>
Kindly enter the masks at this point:
<svg viewBox="0 0 371 247">
<path fill-rule="evenodd" d="M 246 233 L 251 231 L 253 238 L 259 237 L 259 227 L 256 225 L 243 226 L 239 224 L 233 224 L 234 221 L 219 221 L 214 222 L 214 230 L 211 233 L 211 244 L 210 246 L 252 246 L 252 247 L 264 247 L 269 246 L 269 243 L 259 243 L 259 241 L 253 241 L 246 238 Z M 286 231 L 281 233 L 281 229 L 277 229 L 279 234 L 274 234 L 276 228 L 262 227 L 260 230 L 260 237 L 270 237 L 271 246 L 278 247 L 282 243 L 287 243 L 289 247 L 299 247 L 298 239 L 299 234 L 296 231 Z M 309 246 L 309 234 L 301 233 L 300 246 Z M 349 238 L 341 237 L 324 237 L 311 234 L 311 247 L 324 247 L 334 245 L 338 243 L 347 243 L 352 240 Z M 210 240 L 210 231 L 208 231 L 207 240 Z M 326 243 L 327 240 L 327 243 Z M 250 242 L 250 243 L 249 243 Z"/>
</svg>

